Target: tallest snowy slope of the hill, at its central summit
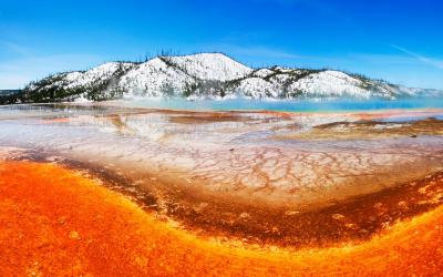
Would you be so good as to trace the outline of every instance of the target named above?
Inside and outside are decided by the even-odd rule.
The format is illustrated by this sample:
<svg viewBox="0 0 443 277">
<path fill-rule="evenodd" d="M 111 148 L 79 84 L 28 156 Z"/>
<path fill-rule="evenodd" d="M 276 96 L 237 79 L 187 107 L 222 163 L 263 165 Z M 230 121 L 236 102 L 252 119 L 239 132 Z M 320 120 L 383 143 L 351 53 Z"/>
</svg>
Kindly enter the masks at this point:
<svg viewBox="0 0 443 277">
<path fill-rule="evenodd" d="M 220 83 L 250 72 L 248 66 L 220 53 L 158 57 L 127 72 L 120 85 L 127 92 L 125 98 L 190 96 L 214 93 Z"/>
</svg>

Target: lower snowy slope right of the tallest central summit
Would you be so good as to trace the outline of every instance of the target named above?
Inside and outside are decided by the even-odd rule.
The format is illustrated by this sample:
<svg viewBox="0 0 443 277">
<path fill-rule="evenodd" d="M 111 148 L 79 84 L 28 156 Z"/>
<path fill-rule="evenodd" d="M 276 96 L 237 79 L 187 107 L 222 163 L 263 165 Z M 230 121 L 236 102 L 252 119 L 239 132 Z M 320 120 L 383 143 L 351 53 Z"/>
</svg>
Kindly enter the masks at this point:
<svg viewBox="0 0 443 277">
<path fill-rule="evenodd" d="M 333 70 L 260 69 L 243 79 L 237 91 L 251 98 L 385 98 L 404 93 L 392 84 Z"/>
</svg>

